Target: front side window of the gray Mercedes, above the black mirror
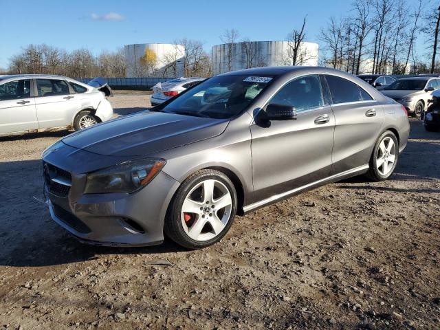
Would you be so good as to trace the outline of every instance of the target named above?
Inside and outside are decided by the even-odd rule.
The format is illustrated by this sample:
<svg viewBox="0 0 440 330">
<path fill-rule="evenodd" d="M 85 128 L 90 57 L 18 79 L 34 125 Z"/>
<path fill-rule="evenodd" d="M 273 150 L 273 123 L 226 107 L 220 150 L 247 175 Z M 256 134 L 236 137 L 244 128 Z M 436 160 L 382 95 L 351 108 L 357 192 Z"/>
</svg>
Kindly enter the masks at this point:
<svg viewBox="0 0 440 330">
<path fill-rule="evenodd" d="M 269 103 L 289 105 L 298 112 L 321 107 L 323 102 L 318 75 L 292 80 L 272 96 Z"/>
</svg>

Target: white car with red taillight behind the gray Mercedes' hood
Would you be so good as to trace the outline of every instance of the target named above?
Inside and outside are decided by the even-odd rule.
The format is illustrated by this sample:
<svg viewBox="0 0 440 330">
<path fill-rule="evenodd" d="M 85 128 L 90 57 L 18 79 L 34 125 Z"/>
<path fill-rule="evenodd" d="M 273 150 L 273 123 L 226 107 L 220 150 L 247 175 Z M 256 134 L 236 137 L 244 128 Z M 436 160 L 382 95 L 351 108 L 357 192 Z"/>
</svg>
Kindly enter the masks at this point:
<svg viewBox="0 0 440 330">
<path fill-rule="evenodd" d="M 173 98 L 182 91 L 200 83 L 206 78 L 177 78 L 168 80 L 165 83 L 157 83 L 153 86 L 153 95 L 151 96 L 151 105 L 161 104 L 170 98 Z"/>
</svg>

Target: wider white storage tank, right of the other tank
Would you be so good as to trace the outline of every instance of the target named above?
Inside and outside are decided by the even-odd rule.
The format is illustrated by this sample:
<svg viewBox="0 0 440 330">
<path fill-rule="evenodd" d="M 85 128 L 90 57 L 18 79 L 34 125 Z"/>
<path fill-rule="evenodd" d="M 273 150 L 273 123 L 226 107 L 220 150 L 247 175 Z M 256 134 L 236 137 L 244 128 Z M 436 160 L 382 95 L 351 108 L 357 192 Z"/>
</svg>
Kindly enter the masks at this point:
<svg viewBox="0 0 440 330">
<path fill-rule="evenodd" d="M 292 43 L 289 41 L 242 41 L 212 47 L 214 74 L 247 69 L 293 65 Z M 296 65 L 318 65 L 317 43 L 300 44 Z"/>
</svg>

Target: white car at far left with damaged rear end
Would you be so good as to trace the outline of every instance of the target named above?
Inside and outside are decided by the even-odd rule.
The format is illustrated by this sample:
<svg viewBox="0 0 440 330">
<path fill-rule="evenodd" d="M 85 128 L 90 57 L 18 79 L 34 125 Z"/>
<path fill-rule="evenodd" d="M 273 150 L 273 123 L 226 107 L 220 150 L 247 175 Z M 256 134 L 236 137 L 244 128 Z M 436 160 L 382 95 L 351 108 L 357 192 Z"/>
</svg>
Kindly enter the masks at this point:
<svg viewBox="0 0 440 330">
<path fill-rule="evenodd" d="M 107 85 L 101 87 L 111 93 Z M 0 134 L 63 126 L 78 131 L 109 120 L 112 115 L 104 92 L 74 79 L 0 76 Z"/>
</svg>

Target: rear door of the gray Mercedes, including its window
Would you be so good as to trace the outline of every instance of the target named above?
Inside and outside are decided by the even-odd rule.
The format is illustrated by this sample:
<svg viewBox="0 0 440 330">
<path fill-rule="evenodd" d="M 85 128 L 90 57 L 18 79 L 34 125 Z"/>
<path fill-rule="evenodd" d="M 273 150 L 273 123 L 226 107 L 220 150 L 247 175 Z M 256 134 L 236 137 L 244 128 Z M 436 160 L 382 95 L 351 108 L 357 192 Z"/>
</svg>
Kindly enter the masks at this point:
<svg viewBox="0 0 440 330">
<path fill-rule="evenodd" d="M 384 109 L 359 85 L 345 78 L 325 75 L 335 115 L 331 174 L 369 164 L 373 146 L 384 121 Z"/>
</svg>

